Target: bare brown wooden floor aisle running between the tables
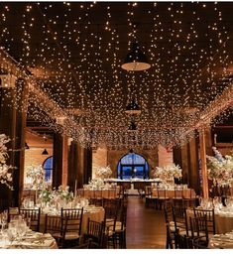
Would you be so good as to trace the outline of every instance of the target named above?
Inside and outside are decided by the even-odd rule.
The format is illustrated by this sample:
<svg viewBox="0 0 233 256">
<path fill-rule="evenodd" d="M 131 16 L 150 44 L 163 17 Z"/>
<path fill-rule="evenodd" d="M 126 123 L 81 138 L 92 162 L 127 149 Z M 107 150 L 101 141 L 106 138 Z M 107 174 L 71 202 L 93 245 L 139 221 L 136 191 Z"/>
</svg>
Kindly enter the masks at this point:
<svg viewBox="0 0 233 256">
<path fill-rule="evenodd" d="M 145 199 L 128 197 L 127 249 L 165 249 L 164 211 L 145 207 Z"/>
</svg>

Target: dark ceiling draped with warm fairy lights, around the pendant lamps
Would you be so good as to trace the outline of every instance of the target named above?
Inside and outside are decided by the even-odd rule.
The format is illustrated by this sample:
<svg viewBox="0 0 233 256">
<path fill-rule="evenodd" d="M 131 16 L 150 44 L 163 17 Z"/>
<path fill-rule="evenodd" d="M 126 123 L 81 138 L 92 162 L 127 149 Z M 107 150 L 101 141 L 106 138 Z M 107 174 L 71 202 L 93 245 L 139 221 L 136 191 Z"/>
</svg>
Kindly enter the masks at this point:
<svg viewBox="0 0 233 256">
<path fill-rule="evenodd" d="M 231 82 L 232 11 L 230 2 L 2 2 L 0 45 L 83 129 L 61 129 L 83 146 L 173 146 Z M 135 39 L 148 70 L 121 68 Z M 142 113 L 130 132 L 132 98 Z M 33 99 L 28 112 L 55 122 Z"/>
</svg>

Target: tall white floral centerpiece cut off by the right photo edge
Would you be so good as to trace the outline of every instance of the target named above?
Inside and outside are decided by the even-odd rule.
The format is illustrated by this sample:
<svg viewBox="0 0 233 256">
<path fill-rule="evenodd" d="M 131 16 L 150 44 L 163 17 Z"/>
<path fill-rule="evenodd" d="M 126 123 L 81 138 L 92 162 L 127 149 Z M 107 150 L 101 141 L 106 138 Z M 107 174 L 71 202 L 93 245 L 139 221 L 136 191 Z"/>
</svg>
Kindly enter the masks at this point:
<svg viewBox="0 0 233 256">
<path fill-rule="evenodd" d="M 206 156 L 208 178 L 217 187 L 231 187 L 233 183 L 233 156 L 222 157 L 213 147 L 214 157 Z"/>
</svg>

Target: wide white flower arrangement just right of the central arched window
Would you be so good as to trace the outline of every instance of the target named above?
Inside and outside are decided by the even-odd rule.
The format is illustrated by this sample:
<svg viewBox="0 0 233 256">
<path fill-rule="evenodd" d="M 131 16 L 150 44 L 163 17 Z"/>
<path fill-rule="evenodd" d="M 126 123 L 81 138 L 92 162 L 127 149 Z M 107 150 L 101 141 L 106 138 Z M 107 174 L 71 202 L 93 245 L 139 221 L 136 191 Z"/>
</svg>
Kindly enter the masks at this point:
<svg viewBox="0 0 233 256">
<path fill-rule="evenodd" d="M 160 178 L 162 181 L 170 181 L 180 179 L 182 177 L 182 170 L 178 165 L 169 165 L 166 167 L 156 167 L 154 177 Z"/>
</svg>

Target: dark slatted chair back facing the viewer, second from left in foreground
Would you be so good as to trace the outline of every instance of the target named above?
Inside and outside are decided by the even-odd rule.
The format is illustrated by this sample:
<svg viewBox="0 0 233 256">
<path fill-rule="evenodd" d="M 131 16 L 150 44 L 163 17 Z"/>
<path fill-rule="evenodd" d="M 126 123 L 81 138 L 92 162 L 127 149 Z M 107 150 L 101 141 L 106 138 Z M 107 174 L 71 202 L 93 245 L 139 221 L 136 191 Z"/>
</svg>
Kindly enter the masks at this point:
<svg viewBox="0 0 233 256">
<path fill-rule="evenodd" d="M 61 208 L 61 218 L 67 218 L 66 234 L 68 232 L 76 232 L 81 235 L 83 207 L 82 208 Z"/>
</svg>

